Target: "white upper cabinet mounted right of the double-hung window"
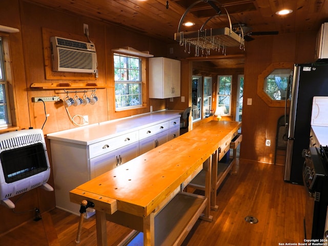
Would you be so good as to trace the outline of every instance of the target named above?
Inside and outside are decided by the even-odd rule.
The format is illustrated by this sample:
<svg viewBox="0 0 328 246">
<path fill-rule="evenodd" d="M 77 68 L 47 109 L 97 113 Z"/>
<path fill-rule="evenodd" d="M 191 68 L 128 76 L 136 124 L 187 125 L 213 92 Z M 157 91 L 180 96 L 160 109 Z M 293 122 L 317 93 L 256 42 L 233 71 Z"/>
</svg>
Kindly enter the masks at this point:
<svg viewBox="0 0 328 246">
<path fill-rule="evenodd" d="M 181 63 L 166 57 L 149 58 L 149 97 L 180 96 Z"/>
</svg>

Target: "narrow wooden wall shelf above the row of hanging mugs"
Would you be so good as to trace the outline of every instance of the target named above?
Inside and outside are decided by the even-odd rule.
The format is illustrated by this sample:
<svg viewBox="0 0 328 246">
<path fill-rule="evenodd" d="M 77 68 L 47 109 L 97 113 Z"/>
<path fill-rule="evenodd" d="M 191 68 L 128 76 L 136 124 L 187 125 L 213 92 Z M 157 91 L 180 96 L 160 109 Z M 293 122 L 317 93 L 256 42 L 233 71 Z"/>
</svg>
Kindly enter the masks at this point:
<svg viewBox="0 0 328 246">
<path fill-rule="evenodd" d="M 31 88 L 55 90 L 55 89 L 104 89 L 106 85 L 96 83 L 33 83 Z"/>
</svg>

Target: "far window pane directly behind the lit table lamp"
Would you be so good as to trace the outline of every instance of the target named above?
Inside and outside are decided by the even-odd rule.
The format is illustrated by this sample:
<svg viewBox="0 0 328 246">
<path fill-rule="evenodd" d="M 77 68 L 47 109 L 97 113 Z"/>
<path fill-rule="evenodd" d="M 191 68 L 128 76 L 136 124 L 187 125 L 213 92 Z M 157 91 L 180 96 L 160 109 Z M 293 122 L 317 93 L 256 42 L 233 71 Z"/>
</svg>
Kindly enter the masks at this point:
<svg viewBox="0 0 328 246">
<path fill-rule="evenodd" d="M 231 115 L 232 75 L 219 75 L 217 88 L 217 110 L 220 115 Z"/>
</svg>

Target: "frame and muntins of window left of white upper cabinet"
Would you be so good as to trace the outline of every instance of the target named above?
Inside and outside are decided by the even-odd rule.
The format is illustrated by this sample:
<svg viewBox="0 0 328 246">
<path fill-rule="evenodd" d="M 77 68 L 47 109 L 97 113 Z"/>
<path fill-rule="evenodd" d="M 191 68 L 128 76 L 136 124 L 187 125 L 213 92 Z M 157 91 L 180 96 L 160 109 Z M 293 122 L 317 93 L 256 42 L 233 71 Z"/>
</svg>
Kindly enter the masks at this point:
<svg viewBox="0 0 328 246">
<path fill-rule="evenodd" d="M 116 80 L 115 79 L 115 69 L 117 69 L 115 67 L 115 56 L 119 56 L 119 57 L 130 57 L 130 58 L 137 58 L 139 59 L 139 79 L 138 80 Z M 140 57 L 137 55 L 129 55 L 129 54 L 121 54 L 119 52 L 113 52 L 113 74 L 114 74 L 114 105 L 115 105 L 115 111 L 124 111 L 124 110 L 131 110 L 131 109 L 138 109 L 141 107 L 144 107 L 144 98 L 145 98 L 145 67 L 146 67 L 146 59 L 145 57 Z M 121 68 L 119 67 L 118 69 L 127 69 L 127 77 L 129 76 L 129 71 L 131 70 L 135 70 L 135 69 L 129 69 L 129 68 Z M 137 95 L 139 95 L 139 104 L 138 105 L 129 105 L 129 106 L 125 106 L 125 107 L 116 107 L 116 85 L 117 84 L 139 84 L 139 93 Z M 126 96 L 133 96 L 136 94 L 127 94 Z"/>
</svg>

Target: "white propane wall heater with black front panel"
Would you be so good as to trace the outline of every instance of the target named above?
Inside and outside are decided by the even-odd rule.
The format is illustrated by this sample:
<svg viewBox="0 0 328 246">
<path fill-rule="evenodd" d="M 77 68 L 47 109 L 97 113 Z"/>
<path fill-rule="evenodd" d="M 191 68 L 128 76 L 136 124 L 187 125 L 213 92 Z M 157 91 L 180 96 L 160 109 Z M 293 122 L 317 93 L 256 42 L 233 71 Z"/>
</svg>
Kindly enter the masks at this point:
<svg viewBox="0 0 328 246">
<path fill-rule="evenodd" d="M 50 164 L 41 129 L 0 134 L 0 204 L 15 208 L 10 197 L 40 187 L 53 191 L 47 183 Z"/>
</svg>

